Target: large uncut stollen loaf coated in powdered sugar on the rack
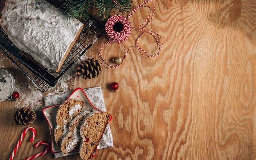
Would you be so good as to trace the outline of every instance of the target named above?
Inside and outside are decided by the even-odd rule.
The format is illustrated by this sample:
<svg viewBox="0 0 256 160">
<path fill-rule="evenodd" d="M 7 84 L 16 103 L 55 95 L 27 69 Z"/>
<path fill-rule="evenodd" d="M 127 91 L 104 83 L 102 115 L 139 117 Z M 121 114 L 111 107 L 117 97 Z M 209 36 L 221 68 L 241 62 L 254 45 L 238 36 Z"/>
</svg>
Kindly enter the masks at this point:
<svg viewBox="0 0 256 160">
<path fill-rule="evenodd" d="M 16 47 L 55 71 L 83 29 L 83 23 L 45 0 L 7 0 L 0 24 Z"/>
</svg>

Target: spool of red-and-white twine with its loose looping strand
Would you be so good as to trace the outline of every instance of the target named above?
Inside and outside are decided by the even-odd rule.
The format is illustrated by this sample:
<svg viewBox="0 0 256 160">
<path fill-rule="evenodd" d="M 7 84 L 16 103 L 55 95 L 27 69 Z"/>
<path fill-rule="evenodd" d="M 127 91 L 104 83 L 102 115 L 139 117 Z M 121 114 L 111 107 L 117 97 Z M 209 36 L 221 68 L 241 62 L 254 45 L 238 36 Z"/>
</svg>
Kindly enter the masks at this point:
<svg viewBox="0 0 256 160">
<path fill-rule="evenodd" d="M 115 0 L 113 0 L 113 1 L 115 2 Z M 150 7 L 146 6 L 146 4 L 149 1 L 153 3 L 153 11 Z M 118 6 L 118 4 L 117 4 L 117 6 Z M 132 16 L 132 14 L 134 14 L 138 9 L 140 9 L 142 7 L 147 7 L 147 8 L 150 9 L 150 13 L 148 15 L 148 18 L 142 24 L 140 24 L 138 28 L 132 27 L 132 25 L 130 24 L 129 18 L 130 18 L 130 16 Z M 152 14 L 152 16 L 151 16 L 151 14 Z M 132 9 L 132 11 L 130 12 L 130 14 L 127 17 L 124 17 L 124 15 L 122 14 L 122 16 L 115 15 L 115 16 L 110 17 L 110 19 L 108 19 L 108 21 L 106 22 L 106 34 L 109 38 L 109 41 L 104 43 L 103 46 L 101 47 L 100 51 L 99 51 L 99 60 L 100 60 L 101 64 L 103 65 L 103 67 L 108 68 L 108 69 L 115 69 L 115 68 L 119 67 L 124 62 L 124 60 L 127 56 L 127 53 L 128 53 L 128 51 L 130 50 L 131 47 L 136 47 L 139 50 L 139 52 L 141 53 L 141 55 L 145 56 L 145 57 L 157 57 L 159 55 L 159 53 L 161 52 L 161 50 L 163 48 L 163 45 L 164 45 L 162 38 L 159 36 L 158 33 L 154 32 L 154 31 L 143 30 L 151 22 L 154 14 L 155 14 L 155 3 L 153 2 L 153 0 L 144 0 L 137 8 Z M 120 32 L 117 32 L 113 29 L 113 26 L 117 23 L 121 23 L 124 26 L 123 30 L 120 31 Z M 131 47 L 128 48 L 128 50 L 126 50 L 124 45 L 121 44 L 121 42 L 124 42 L 130 36 L 131 28 L 136 29 L 138 31 L 141 31 L 142 33 L 137 38 L 135 46 L 131 46 Z M 144 33 L 149 33 L 155 38 L 155 40 L 157 42 L 157 45 L 158 45 L 158 52 L 157 53 L 150 54 L 150 53 L 148 53 L 144 49 L 141 49 L 138 46 L 139 39 L 141 38 L 141 36 Z M 159 42 L 159 39 L 161 40 L 161 42 Z M 102 49 L 106 44 L 109 44 L 111 42 L 118 43 L 124 48 L 124 58 L 123 58 L 123 60 L 121 61 L 120 64 L 111 65 L 108 62 L 106 62 L 106 60 L 103 58 Z"/>
</svg>

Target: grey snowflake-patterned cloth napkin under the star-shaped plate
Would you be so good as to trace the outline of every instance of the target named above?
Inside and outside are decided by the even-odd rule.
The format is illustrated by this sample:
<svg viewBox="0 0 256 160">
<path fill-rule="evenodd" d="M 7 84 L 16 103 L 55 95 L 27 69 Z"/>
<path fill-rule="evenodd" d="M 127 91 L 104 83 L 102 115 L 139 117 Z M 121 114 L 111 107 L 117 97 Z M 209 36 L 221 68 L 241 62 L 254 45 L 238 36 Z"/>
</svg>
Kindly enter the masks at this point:
<svg viewBox="0 0 256 160">
<path fill-rule="evenodd" d="M 88 88 L 88 89 L 83 89 L 83 90 L 85 91 L 89 100 L 92 102 L 92 104 L 95 107 L 101 109 L 102 111 L 106 111 L 101 87 L 94 87 L 94 88 Z M 54 104 L 62 103 L 68 98 L 68 96 L 70 96 L 71 93 L 72 92 L 67 92 L 67 93 L 61 93 L 61 94 L 52 95 L 52 96 L 46 96 L 44 98 L 45 105 L 51 106 Z M 111 133 L 109 124 L 101 138 L 101 141 L 99 142 L 97 149 L 103 149 L 103 148 L 108 148 L 108 147 L 113 147 L 113 138 L 112 138 L 112 133 Z M 77 153 L 79 153 L 79 152 L 71 151 L 68 154 L 59 152 L 59 153 L 54 153 L 54 157 L 58 158 L 58 157 L 69 156 L 69 155 L 77 154 Z"/>
</svg>

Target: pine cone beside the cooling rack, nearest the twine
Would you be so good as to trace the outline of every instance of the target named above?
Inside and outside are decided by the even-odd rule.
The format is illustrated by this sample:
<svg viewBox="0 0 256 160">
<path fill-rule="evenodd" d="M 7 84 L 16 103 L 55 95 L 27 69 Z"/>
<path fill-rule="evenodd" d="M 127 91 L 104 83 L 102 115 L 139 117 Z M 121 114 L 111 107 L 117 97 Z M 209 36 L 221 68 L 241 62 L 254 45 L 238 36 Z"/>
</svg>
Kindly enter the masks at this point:
<svg viewBox="0 0 256 160">
<path fill-rule="evenodd" d="M 83 61 L 80 66 L 77 66 L 76 69 L 77 76 L 83 76 L 83 79 L 91 79 L 99 76 L 99 73 L 101 72 L 101 64 L 98 60 L 89 58 L 87 61 Z"/>
</svg>

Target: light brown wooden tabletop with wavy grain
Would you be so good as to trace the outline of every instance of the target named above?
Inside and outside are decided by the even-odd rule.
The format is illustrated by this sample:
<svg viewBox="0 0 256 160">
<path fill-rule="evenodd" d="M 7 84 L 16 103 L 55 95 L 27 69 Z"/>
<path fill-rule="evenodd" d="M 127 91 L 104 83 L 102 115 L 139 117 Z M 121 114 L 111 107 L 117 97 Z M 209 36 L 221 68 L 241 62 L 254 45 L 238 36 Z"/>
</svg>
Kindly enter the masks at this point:
<svg viewBox="0 0 256 160">
<path fill-rule="evenodd" d="M 157 31 L 164 40 L 157 58 L 145 58 L 132 49 L 117 69 L 103 69 L 92 80 L 69 80 L 70 91 L 101 86 L 106 108 L 113 115 L 114 147 L 99 150 L 92 160 L 256 159 L 256 2 L 154 2 L 155 17 L 147 29 Z M 138 26 L 147 14 L 147 9 L 141 9 L 131 23 Z M 124 45 L 134 44 L 138 35 L 132 31 Z M 105 36 L 98 40 L 88 56 L 98 59 L 105 40 Z M 157 50 L 149 35 L 142 37 L 140 45 L 150 52 Z M 123 56 L 117 44 L 108 45 L 104 52 L 108 59 Z M 1 53 L 0 58 L 5 55 Z M 10 60 L 0 66 L 13 74 L 20 87 L 33 85 Z M 108 89 L 111 82 L 119 83 L 116 94 Z M 1 160 L 9 158 L 25 128 L 13 120 L 15 103 L 0 103 Z M 32 127 L 38 132 L 35 142 L 50 140 L 45 120 Z M 43 149 L 32 149 L 29 136 L 15 160 Z M 54 158 L 48 153 L 39 159 Z M 79 155 L 58 159 L 79 159 Z"/>
</svg>

